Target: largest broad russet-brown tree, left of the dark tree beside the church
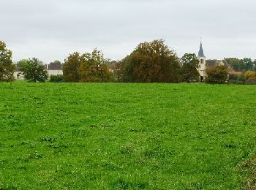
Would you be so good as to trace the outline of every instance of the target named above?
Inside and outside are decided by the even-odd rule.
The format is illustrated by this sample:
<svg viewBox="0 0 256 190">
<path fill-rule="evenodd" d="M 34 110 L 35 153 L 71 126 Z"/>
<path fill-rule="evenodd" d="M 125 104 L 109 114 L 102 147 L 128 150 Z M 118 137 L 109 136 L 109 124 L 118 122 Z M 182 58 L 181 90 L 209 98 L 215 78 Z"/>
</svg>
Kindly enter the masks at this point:
<svg viewBox="0 0 256 190">
<path fill-rule="evenodd" d="M 120 82 L 178 83 L 181 78 L 178 57 L 162 39 L 140 43 L 114 73 Z"/>
</svg>

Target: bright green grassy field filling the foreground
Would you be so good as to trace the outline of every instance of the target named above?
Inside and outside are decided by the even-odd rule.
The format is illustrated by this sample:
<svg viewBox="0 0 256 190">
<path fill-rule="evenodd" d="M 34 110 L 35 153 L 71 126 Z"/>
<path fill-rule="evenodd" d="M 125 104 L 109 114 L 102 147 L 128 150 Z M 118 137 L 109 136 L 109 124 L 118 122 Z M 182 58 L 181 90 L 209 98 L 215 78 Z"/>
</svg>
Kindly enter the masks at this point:
<svg viewBox="0 0 256 190">
<path fill-rule="evenodd" d="M 0 189 L 242 189 L 255 86 L 0 83 Z"/>
</svg>

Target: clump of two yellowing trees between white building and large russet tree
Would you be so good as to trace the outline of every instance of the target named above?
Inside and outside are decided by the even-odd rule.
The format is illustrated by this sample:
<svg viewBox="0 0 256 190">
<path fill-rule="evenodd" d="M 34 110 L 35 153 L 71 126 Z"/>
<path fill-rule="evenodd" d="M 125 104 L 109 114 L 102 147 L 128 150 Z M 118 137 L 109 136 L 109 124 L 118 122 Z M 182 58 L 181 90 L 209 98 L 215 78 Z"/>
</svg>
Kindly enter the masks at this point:
<svg viewBox="0 0 256 190">
<path fill-rule="evenodd" d="M 108 59 L 101 50 L 94 49 L 91 53 L 75 52 L 70 54 L 63 65 L 65 82 L 110 82 L 112 72 L 108 69 Z"/>
</svg>

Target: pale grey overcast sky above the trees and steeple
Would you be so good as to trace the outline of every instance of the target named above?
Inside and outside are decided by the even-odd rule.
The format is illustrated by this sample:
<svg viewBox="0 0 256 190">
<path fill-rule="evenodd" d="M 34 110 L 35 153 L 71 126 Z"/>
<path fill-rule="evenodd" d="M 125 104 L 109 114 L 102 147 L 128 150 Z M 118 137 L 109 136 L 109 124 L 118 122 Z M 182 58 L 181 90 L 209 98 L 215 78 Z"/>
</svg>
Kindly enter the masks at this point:
<svg viewBox="0 0 256 190">
<path fill-rule="evenodd" d="M 48 63 L 103 50 L 121 59 L 140 42 L 165 39 L 182 56 L 256 58 L 255 0 L 0 0 L 0 40 L 13 60 Z"/>
</svg>

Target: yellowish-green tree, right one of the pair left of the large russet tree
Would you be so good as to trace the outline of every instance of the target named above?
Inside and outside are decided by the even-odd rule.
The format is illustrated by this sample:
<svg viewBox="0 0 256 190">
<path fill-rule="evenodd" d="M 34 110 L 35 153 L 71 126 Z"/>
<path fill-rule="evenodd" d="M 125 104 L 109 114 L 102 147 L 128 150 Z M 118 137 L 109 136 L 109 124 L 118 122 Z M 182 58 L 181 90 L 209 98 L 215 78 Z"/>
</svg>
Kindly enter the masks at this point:
<svg viewBox="0 0 256 190">
<path fill-rule="evenodd" d="M 108 69 L 108 59 L 101 50 L 94 49 L 91 53 L 84 53 L 79 67 L 80 82 L 110 82 L 112 72 Z"/>
</svg>

